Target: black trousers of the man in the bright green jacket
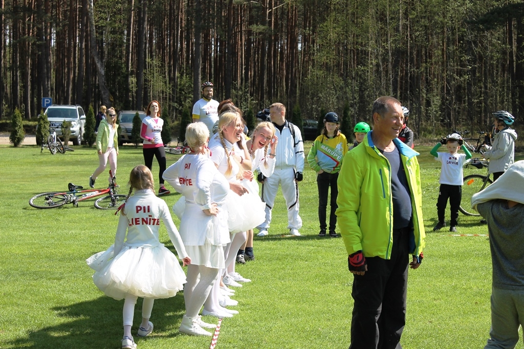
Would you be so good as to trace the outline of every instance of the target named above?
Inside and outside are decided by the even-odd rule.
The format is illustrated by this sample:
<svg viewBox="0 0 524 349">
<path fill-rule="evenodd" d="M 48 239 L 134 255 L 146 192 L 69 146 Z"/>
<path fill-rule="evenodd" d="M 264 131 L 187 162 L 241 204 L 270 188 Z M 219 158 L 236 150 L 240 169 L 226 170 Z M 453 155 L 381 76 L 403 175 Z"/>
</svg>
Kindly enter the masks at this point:
<svg viewBox="0 0 524 349">
<path fill-rule="evenodd" d="M 391 258 L 369 257 L 354 275 L 350 349 L 401 349 L 406 325 L 409 228 L 393 230 Z"/>
</svg>

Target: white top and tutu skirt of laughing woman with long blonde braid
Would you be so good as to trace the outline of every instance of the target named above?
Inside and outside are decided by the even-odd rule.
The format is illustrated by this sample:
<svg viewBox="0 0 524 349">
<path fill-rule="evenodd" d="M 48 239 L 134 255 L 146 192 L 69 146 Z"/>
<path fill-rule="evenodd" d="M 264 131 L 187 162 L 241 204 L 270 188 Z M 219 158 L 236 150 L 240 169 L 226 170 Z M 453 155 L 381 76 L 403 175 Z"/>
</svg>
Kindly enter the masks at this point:
<svg viewBox="0 0 524 349">
<path fill-rule="evenodd" d="M 233 156 L 235 152 L 237 154 L 243 153 L 242 149 L 238 148 L 237 143 L 232 144 L 225 139 L 224 143 L 226 144 L 228 152 L 230 152 L 230 156 Z M 231 161 L 231 173 L 228 175 L 225 174 L 227 172 L 227 156 L 224 147 L 220 142 L 220 137 L 218 134 L 215 134 L 215 136 L 213 136 L 213 138 L 209 141 L 209 148 L 212 152 L 211 160 L 217 164 L 219 172 L 224 174 L 227 181 L 242 184 L 242 182 L 245 180 L 241 181 L 240 179 L 237 179 L 237 174 L 239 171 L 241 171 L 241 168 L 236 161 Z M 233 190 L 230 190 L 229 194 L 227 195 L 227 223 L 230 233 L 234 234 L 253 229 L 259 224 L 263 223 L 266 219 L 266 213 L 264 211 L 266 204 L 260 200 L 260 197 L 258 196 L 258 190 L 248 190 L 249 193 L 242 196 L 239 196 L 233 192 Z"/>
</svg>

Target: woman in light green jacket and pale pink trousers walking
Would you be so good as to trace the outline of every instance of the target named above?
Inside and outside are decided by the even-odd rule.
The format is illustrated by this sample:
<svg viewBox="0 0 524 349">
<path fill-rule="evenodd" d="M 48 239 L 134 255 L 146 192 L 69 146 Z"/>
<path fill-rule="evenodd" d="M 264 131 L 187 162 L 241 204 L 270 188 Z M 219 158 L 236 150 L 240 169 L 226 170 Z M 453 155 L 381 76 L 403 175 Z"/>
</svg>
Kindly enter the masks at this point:
<svg viewBox="0 0 524 349">
<path fill-rule="evenodd" d="M 107 161 L 111 168 L 111 176 L 116 175 L 116 156 L 118 155 L 118 125 L 116 124 L 116 111 L 113 107 L 107 109 L 107 119 L 100 121 L 96 134 L 96 151 L 99 155 L 99 166 L 89 177 L 89 186 L 95 187 L 96 178 L 105 170 Z"/>
</svg>

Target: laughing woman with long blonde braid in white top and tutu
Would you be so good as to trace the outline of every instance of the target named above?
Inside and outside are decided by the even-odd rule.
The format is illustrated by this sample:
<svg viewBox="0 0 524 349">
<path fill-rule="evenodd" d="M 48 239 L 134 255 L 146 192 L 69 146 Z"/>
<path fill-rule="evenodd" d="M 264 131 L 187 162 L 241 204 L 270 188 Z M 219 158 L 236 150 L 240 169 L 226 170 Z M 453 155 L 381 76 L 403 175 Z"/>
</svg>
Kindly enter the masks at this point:
<svg viewBox="0 0 524 349">
<path fill-rule="evenodd" d="M 246 241 L 246 231 L 265 220 L 265 204 L 257 189 L 249 189 L 243 182 L 253 181 L 251 155 L 246 145 L 244 124 L 239 114 L 226 111 L 219 118 L 219 132 L 210 140 L 211 159 L 230 183 L 227 197 L 228 226 L 232 242 L 225 251 L 226 268 L 235 264 L 238 250 Z M 241 286 L 237 281 L 249 282 L 240 274 L 224 271 L 224 284 Z"/>
</svg>

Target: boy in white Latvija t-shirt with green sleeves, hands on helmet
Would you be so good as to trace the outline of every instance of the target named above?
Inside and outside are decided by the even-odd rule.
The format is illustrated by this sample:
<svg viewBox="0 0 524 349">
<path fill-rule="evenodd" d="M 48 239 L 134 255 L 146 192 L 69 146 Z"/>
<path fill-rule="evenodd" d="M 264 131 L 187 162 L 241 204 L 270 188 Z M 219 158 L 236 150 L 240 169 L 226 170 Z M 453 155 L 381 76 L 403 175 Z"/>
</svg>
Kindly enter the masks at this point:
<svg viewBox="0 0 524 349">
<path fill-rule="evenodd" d="M 447 152 L 438 153 L 437 150 L 445 145 Z M 461 148 L 465 154 L 457 153 Z M 433 231 L 437 231 L 446 226 L 444 222 L 444 213 L 446 211 L 447 199 L 450 199 L 451 221 L 450 231 L 456 232 L 457 218 L 459 218 L 459 207 L 462 199 L 463 173 L 462 165 L 468 159 L 471 159 L 470 151 L 465 147 L 464 140 L 458 133 L 449 134 L 441 139 L 439 143 L 431 149 L 430 154 L 435 157 L 436 161 L 442 163 L 440 167 L 440 189 L 439 198 L 436 201 L 436 209 L 439 216 L 439 222 L 436 223 Z"/>
</svg>

